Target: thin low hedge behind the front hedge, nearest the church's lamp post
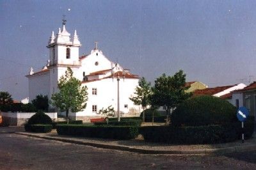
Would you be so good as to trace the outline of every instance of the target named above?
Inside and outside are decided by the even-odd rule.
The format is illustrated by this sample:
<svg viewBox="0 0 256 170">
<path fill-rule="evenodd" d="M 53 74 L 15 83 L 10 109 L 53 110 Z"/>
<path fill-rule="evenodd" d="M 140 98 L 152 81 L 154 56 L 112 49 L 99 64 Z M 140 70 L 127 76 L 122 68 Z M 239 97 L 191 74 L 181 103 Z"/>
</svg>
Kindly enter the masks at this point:
<svg viewBox="0 0 256 170">
<path fill-rule="evenodd" d="M 120 120 L 120 121 L 109 121 L 106 122 L 95 122 L 94 125 L 102 126 L 102 125 L 110 125 L 110 126 L 141 126 L 142 121 L 141 120 Z"/>
</svg>

